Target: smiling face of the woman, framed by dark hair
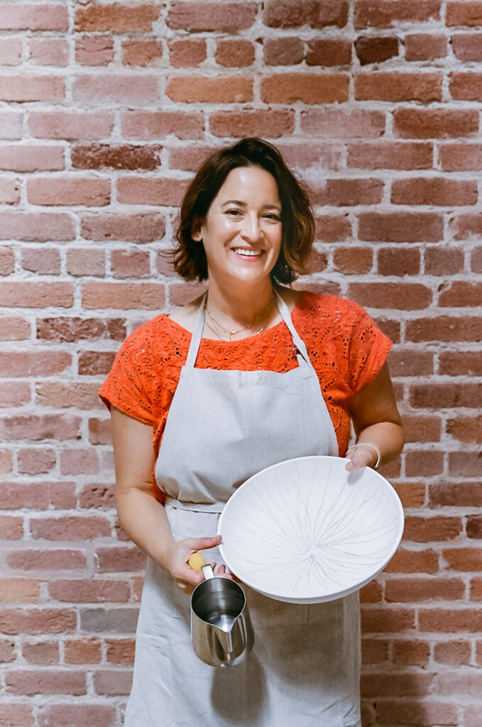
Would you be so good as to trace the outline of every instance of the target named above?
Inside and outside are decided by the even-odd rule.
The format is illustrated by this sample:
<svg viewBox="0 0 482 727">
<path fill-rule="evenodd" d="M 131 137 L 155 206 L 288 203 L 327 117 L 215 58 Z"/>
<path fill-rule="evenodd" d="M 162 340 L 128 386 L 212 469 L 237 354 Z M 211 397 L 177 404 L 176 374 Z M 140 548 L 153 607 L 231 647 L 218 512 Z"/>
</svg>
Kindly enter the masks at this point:
<svg viewBox="0 0 482 727">
<path fill-rule="evenodd" d="M 281 202 L 274 177 L 238 166 L 226 177 L 193 239 L 203 242 L 209 278 L 269 278 L 281 249 Z"/>
</svg>

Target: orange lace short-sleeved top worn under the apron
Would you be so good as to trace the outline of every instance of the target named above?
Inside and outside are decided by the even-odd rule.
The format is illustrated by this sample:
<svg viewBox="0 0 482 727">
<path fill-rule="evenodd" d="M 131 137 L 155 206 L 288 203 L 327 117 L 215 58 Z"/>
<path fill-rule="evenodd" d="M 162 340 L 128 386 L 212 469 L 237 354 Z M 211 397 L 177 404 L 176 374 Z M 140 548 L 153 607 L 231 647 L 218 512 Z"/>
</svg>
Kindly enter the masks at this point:
<svg viewBox="0 0 482 727">
<path fill-rule="evenodd" d="M 350 438 L 350 401 L 376 377 L 391 342 L 363 308 L 331 295 L 303 293 L 292 320 L 318 374 L 343 456 Z M 156 316 L 124 341 L 99 392 L 108 408 L 113 405 L 152 425 L 156 458 L 190 337 L 166 314 Z M 292 336 L 283 322 L 239 341 L 203 339 L 196 361 L 201 369 L 279 373 L 297 365 Z"/>
</svg>

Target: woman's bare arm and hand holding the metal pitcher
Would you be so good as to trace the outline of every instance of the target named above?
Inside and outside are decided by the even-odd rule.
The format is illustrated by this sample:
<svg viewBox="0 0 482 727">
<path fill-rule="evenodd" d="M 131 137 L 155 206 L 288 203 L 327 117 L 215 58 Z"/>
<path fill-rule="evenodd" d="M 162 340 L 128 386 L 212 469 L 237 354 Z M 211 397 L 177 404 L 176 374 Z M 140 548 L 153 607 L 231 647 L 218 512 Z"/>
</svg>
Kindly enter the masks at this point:
<svg viewBox="0 0 482 727">
<path fill-rule="evenodd" d="M 150 481 L 155 461 L 152 427 L 114 407 L 111 420 L 116 506 L 121 526 L 144 553 L 172 574 L 185 593 L 190 593 L 203 580 L 203 575 L 188 566 L 189 556 L 196 550 L 219 545 L 221 538 L 174 540 L 164 506 L 154 497 Z"/>
</svg>

